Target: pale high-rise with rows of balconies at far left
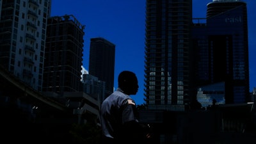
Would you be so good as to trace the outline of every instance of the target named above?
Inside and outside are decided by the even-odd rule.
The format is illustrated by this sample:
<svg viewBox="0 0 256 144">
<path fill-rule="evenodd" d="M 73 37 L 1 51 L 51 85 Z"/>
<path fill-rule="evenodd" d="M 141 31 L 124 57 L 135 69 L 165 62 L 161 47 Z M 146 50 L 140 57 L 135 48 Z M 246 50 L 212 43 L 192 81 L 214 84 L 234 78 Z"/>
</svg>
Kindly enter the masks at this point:
<svg viewBox="0 0 256 144">
<path fill-rule="evenodd" d="M 42 91 L 51 0 L 0 3 L 0 65 L 35 90 Z"/>
</svg>

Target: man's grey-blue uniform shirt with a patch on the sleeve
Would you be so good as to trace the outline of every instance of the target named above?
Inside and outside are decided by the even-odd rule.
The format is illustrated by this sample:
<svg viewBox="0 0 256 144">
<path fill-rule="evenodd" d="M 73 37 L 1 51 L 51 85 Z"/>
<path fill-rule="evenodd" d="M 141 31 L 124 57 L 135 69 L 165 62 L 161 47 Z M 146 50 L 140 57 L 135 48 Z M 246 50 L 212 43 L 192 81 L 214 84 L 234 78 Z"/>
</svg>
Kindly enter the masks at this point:
<svg viewBox="0 0 256 144">
<path fill-rule="evenodd" d="M 100 122 L 102 134 L 106 138 L 118 138 L 122 125 L 127 122 L 138 122 L 134 108 L 136 104 L 129 95 L 117 88 L 101 104 Z"/>
</svg>

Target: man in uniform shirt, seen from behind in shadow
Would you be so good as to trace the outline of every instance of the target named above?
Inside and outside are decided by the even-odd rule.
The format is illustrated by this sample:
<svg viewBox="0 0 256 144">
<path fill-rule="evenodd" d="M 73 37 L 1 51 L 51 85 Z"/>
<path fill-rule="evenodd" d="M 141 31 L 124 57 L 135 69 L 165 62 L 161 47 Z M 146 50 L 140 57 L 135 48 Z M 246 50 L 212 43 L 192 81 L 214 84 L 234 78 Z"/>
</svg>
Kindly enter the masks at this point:
<svg viewBox="0 0 256 144">
<path fill-rule="evenodd" d="M 102 102 L 100 108 L 104 144 L 130 144 L 145 140 L 146 133 L 138 122 L 136 104 L 129 96 L 135 95 L 138 88 L 138 79 L 133 72 L 119 74 L 118 88 Z"/>
</svg>

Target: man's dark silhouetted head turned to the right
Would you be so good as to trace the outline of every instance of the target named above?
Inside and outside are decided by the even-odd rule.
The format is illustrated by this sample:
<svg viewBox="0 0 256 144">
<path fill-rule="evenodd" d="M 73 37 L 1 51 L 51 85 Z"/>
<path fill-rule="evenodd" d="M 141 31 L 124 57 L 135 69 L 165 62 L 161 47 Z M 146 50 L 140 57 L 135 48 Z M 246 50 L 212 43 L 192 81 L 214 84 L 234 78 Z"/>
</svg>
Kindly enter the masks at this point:
<svg viewBox="0 0 256 144">
<path fill-rule="evenodd" d="M 120 72 L 118 76 L 118 87 L 127 95 L 135 95 L 139 88 L 136 74 L 127 70 Z"/>
</svg>

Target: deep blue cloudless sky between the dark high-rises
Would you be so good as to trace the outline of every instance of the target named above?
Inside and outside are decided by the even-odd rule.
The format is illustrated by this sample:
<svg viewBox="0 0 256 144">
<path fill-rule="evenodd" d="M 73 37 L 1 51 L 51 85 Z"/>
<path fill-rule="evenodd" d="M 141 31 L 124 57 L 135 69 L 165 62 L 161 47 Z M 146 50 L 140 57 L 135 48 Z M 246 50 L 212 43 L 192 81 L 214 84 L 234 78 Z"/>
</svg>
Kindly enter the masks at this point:
<svg viewBox="0 0 256 144">
<path fill-rule="evenodd" d="M 206 15 L 207 3 L 212 0 L 193 0 L 193 17 Z M 256 87 L 256 1 L 244 0 L 248 8 L 248 37 L 250 60 L 250 92 Z M 85 26 L 83 67 L 88 70 L 90 38 L 102 37 L 116 45 L 115 88 L 123 70 L 136 73 L 139 81 L 136 104 L 143 104 L 144 47 L 146 0 L 52 0 L 51 16 L 74 15 Z"/>
</svg>

